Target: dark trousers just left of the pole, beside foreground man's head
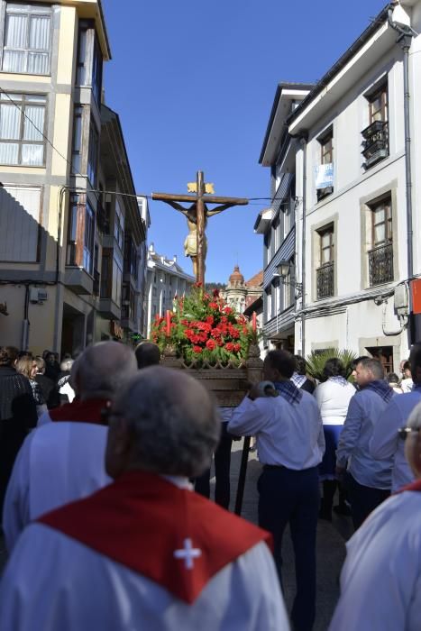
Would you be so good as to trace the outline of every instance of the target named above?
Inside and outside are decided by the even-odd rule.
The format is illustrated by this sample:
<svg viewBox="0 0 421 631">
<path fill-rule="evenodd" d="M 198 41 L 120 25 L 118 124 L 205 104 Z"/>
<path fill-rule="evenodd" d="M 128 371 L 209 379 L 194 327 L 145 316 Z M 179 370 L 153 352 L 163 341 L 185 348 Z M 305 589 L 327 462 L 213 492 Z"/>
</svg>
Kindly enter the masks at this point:
<svg viewBox="0 0 421 631">
<path fill-rule="evenodd" d="M 215 451 L 215 502 L 228 509 L 230 506 L 230 465 L 233 438 L 227 432 L 228 423 L 221 423 L 221 439 Z M 195 490 L 206 498 L 210 496 L 210 469 L 195 481 Z"/>
</svg>

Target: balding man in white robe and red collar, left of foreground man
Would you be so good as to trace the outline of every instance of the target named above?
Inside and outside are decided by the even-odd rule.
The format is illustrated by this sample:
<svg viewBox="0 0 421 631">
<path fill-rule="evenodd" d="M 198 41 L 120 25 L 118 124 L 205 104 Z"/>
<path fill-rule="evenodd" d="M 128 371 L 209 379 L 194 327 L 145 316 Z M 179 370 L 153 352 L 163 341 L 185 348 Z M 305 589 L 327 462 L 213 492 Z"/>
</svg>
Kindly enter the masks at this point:
<svg viewBox="0 0 421 631">
<path fill-rule="evenodd" d="M 25 439 L 14 463 L 3 515 L 9 551 L 30 521 L 109 482 L 103 412 L 135 371 L 134 353 L 121 343 L 100 342 L 79 355 L 71 374 L 79 399 L 50 410 L 54 422 Z"/>
</svg>

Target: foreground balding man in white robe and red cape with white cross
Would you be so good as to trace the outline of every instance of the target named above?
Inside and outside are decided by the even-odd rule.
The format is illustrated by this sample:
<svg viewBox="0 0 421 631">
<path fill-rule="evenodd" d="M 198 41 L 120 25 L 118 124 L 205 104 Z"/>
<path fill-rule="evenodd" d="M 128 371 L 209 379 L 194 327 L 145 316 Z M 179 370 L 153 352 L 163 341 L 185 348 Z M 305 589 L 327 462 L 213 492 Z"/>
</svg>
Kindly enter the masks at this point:
<svg viewBox="0 0 421 631">
<path fill-rule="evenodd" d="M 0 587 L 0 631 L 288 629 L 269 533 L 188 482 L 219 425 L 198 381 L 140 370 L 112 408 L 114 483 L 28 526 Z"/>
</svg>

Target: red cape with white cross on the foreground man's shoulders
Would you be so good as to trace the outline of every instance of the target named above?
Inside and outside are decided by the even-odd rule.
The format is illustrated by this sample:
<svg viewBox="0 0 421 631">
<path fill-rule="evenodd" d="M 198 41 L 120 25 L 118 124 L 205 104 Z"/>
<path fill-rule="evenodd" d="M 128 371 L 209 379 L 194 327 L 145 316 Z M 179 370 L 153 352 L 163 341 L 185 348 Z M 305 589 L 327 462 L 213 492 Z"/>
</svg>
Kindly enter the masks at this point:
<svg viewBox="0 0 421 631">
<path fill-rule="evenodd" d="M 89 498 L 39 519 L 194 602 L 206 583 L 271 535 L 158 475 L 127 471 Z M 194 558 L 180 558 L 186 547 Z M 177 552 L 177 554 L 175 554 Z"/>
</svg>

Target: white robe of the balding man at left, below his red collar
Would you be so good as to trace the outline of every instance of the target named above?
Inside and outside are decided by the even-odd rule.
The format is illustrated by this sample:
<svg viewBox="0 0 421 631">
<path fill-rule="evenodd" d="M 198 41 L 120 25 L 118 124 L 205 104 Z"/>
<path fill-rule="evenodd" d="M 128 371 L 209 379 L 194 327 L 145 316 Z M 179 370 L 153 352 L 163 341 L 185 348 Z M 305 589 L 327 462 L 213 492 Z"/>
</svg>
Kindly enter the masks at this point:
<svg viewBox="0 0 421 631">
<path fill-rule="evenodd" d="M 9 552 L 30 521 L 111 481 L 105 473 L 107 430 L 105 425 L 63 421 L 42 425 L 26 437 L 5 495 Z"/>
</svg>

